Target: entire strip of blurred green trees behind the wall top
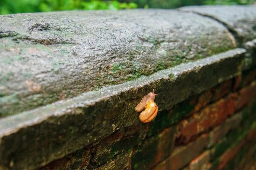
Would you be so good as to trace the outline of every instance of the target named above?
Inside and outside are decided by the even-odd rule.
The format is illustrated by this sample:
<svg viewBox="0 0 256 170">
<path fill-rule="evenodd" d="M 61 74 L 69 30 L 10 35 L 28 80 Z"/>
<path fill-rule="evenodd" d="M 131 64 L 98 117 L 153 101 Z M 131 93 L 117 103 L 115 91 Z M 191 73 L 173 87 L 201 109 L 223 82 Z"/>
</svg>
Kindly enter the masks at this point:
<svg viewBox="0 0 256 170">
<path fill-rule="evenodd" d="M 62 10 L 177 8 L 187 5 L 253 4 L 256 0 L 0 0 L 0 14 Z"/>
</svg>

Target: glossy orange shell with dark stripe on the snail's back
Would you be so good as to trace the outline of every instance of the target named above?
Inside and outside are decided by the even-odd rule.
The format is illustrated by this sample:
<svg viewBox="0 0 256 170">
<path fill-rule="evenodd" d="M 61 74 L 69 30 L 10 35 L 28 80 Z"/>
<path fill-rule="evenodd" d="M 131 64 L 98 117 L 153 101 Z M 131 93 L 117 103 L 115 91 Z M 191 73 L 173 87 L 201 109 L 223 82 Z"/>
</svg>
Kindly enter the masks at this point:
<svg viewBox="0 0 256 170">
<path fill-rule="evenodd" d="M 140 120 L 144 123 L 155 119 L 158 107 L 153 100 L 148 101 L 144 106 L 144 111 L 140 113 Z"/>
</svg>

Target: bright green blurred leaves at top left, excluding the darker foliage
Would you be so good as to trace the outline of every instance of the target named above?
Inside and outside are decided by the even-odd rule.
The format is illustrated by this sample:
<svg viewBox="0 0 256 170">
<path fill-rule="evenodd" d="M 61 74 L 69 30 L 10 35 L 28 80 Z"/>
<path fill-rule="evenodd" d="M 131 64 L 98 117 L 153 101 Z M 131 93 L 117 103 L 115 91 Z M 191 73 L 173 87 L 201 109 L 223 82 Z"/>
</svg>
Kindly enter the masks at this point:
<svg viewBox="0 0 256 170">
<path fill-rule="evenodd" d="M 62 10 L 121 10 L 137 8 L 133 2 L 117 0 L 0 0 L 0 14 L 47 12 Z"/>
</svg>

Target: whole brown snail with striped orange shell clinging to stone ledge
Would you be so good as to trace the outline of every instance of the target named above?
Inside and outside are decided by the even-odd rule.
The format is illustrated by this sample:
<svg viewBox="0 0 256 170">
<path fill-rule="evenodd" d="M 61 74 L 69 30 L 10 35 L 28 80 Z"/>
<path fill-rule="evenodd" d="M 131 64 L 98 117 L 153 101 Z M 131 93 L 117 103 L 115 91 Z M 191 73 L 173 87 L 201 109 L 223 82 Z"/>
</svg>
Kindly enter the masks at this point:
<svg viewBox="0 0 256 170">
<path fill-rule="evenodd" d="M 150 122 L 156 118 L 158 107 L 154 102 L 155 96 L 158 95 L 154 94 L 154 90 L 149 92 L 135 107 L 136 112 L 141 112 L 139 118 L 143 123 Z"/>
</svg>

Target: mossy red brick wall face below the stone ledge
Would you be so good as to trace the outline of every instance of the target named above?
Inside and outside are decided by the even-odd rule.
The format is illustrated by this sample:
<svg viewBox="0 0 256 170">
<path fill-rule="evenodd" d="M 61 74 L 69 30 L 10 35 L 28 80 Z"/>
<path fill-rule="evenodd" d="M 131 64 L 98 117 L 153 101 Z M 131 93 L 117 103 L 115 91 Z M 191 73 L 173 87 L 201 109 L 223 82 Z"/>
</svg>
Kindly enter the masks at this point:
<svg viewBox="0 0 256 170">
<path fill-rule="evenodd" d="M 244 71 L 41 169 L 255 168 L 255 79 Z"/>
</svg>

